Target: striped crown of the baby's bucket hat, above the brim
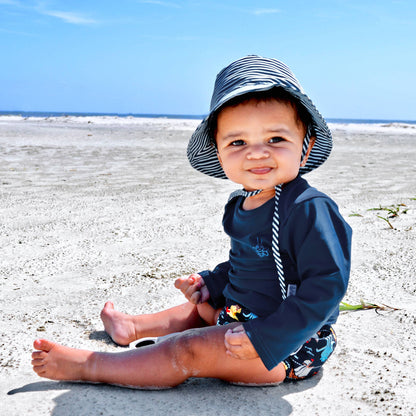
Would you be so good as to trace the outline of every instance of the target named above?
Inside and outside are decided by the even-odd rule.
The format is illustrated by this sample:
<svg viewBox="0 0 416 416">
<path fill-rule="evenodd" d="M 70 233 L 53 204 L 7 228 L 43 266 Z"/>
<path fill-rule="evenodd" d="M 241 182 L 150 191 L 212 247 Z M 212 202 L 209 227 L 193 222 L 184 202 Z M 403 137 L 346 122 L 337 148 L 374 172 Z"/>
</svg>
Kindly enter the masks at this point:
<svg viewBox="0 0 416 416">
<path fill-rule="evenodd" d="M 299 81 L 283 62 L 257 55 L 245 56 L 232 62 L 217 75 L 210 112 L 234 96 L 243 94 L 244 90 L 262 91 L 274 86 L 303 93 Z"/>
</svg>

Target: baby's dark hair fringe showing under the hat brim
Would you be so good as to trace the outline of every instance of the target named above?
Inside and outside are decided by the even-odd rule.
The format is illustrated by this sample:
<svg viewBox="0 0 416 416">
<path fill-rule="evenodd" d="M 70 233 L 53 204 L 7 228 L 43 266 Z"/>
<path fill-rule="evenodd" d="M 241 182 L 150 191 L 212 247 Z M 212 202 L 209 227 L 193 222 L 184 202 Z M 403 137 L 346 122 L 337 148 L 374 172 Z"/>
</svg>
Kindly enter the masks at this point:
<svg viewBox="0 0 416 416">
<path fill-rule="evenodd" d="M 308 110 L 299 102 L 297 98 L 295 98 L 292 94 L 287 92 L 281 87 L 274 87 L 266 91 L 256 91 L 256 92 L 249 92 L 247 94 L 239 95 L 238 97 L 232 98 L 231 100 L 227 101 L 224 105 L 214 111 L 209 117 L 207 121 L 208 127 L 208 134 L 211 140 L 211 143 L 216 147 L 215 142 L 215 135 L 217 132 L 217 119 L 218 114 L 227 107 L 235 107 L 239 104 L 245 103 L 249 100 L 256 100 L 256 101 L 270 101 L 276 100 L 281 103 L 289 104 L 296 112 L 297 121 L 301 123 L 305 129 L 308 129 L 308 126 L 311 123 L 311 115 Z"/>
</svg>

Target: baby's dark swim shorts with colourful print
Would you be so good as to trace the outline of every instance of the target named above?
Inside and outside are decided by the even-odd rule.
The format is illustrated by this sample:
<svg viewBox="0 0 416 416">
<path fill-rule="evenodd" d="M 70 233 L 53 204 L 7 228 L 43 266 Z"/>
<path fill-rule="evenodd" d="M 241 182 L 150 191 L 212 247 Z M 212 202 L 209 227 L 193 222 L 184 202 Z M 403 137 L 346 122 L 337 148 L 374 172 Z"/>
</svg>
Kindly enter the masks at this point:
<svg viewBox="0 0 416 416">
<path fill-rule="evenodd" d="M 246 322 L 255 318 L 257 315 L 247 308 L 227 304 L 218 316 L 217 325 Z M 317 374 L 336 345 L 335 331 L 330 325 L 324 325 L 312 338 L 283 360 L 286 380 L 303 380 Z"/>
</svg>

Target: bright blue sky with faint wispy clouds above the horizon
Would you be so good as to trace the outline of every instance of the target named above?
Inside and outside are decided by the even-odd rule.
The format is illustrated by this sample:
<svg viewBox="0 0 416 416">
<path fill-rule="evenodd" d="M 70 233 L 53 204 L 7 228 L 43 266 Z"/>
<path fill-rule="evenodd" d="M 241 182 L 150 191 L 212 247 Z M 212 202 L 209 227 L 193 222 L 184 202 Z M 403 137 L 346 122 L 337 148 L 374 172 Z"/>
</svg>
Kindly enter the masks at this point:
<svg viewBox="0 0 416 416">
<path fill-rule="evenodd" d="M 414 0 L 0 0 L 0 111 L 205 114 L 255 53 L 328 118 L 416 120 L 415 51 Z"/>
</svg>

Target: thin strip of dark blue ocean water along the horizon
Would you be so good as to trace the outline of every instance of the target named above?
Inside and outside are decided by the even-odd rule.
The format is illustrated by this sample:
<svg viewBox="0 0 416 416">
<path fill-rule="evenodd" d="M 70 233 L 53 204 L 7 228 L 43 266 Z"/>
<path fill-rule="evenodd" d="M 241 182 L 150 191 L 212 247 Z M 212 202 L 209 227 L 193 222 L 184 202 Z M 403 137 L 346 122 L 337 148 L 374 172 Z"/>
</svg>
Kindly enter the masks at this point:
<svg viewBox="0 0 416 416">
<path fill-rule="evenodd" d="M 171 119 L 193 119 L 200 120 L 205 117 L 195 114 L 134 114 L 134 113 L 73 113 L 59 111 L 0 111 L 0 116 L 22 116 L 22 117 L 138 117 L 138 118 L 171 118 Z M 328 123 L 354 123 L 354 124 L 390 124 L 405 123 L 416 124 L 416 120 L 395 120 L 395 119 L 356 119 L 356 118 L 326 118 Z"/>
</svg>

